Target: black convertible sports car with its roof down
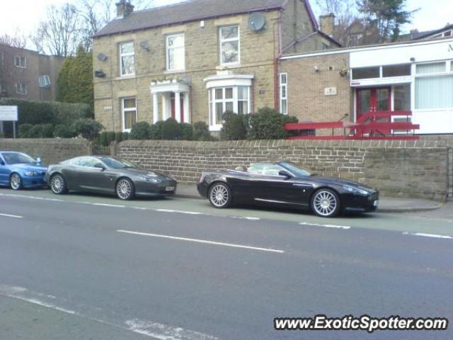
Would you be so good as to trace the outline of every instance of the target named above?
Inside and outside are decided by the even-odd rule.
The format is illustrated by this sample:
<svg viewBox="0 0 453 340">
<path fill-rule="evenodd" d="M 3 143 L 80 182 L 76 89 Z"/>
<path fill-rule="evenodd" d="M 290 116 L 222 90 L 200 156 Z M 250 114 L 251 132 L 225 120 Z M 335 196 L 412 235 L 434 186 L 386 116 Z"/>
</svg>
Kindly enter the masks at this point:
<svg viewBox="0 0 453 340">
<path fill-rule="evenodd" d="M 231 203 L 310 208 L 321 217 L 377 209 L 379 191 L 359 183 L 314 176 L 291 162 L 252 163 L 244 169 L 203 172 L 197 184 L 215 208 Z"/>
</svg>

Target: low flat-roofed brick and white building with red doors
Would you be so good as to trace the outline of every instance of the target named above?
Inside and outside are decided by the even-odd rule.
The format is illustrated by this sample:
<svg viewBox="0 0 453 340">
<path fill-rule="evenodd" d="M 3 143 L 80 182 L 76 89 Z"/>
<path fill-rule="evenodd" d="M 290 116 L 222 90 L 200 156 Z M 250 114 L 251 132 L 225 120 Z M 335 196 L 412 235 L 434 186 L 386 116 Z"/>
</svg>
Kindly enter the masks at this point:
<svg viewBox="0 0 453 340">
<path fill-rule="evenodd" d="M 301 122 L 412 111 L 392 120 L 411 119 L 421 135 L 453 133 L 453 38 L 285 55 L 280 73 L 287 111 Z"/>
</svg>

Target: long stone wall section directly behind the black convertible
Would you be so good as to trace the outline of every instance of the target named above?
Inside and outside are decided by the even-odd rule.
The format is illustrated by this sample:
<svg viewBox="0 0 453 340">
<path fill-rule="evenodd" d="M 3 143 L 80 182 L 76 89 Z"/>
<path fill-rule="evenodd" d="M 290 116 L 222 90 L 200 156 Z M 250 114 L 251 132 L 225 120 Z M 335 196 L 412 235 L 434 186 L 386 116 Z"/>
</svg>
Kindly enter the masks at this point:
<svg viewBox="0 0 453 340">
<path fill-rule="evenodd" d="M 385 196 L 445 200 L 447 193 L 447 148 L 436 140 L 126 141 L 117 145 L 117 155 L 182 182 L 197 181 L 205 170 L 285 159 L 317 174 L 367 183 Z"/>
</svg>

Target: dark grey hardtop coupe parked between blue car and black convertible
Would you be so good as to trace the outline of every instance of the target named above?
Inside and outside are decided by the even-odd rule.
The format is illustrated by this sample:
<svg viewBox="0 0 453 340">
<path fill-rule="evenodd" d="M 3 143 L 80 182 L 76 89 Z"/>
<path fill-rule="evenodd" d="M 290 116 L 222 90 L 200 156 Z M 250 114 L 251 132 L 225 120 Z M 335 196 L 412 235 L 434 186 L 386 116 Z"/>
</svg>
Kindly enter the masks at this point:
<svg viewBox="0 0 453 340">
<path fill-rule="evenodd" d="M 46 181 L 57 194 L 71 190 L 115 193 L 121 200 L 169 196 L 176 191 L 176 180 L 169 176 L 139 169 L 124 159 L 103 156 L 76 157 L 50 165 Z"/>
</svg>

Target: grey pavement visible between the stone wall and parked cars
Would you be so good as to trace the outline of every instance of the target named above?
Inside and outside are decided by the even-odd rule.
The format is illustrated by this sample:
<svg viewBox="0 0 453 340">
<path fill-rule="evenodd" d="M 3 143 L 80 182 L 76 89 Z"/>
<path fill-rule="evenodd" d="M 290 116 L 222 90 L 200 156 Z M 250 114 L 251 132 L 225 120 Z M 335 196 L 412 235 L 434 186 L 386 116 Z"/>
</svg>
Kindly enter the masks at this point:
<svg viewBox="0 0 453 340">
<path fill-rule="evenodd" d="M 195 183 L 178 183 L 176 195 L 183 198 L 201 198 L 197 192 Z M 419 198 L 393 198 L 380 197 L 378 212 L 415 212 L 435 210 L 442 207 L 442 203 L 434 200 L 422 200 Z"/>
</svg>

